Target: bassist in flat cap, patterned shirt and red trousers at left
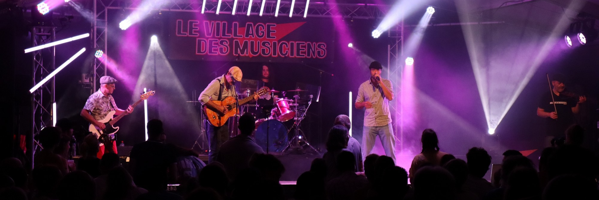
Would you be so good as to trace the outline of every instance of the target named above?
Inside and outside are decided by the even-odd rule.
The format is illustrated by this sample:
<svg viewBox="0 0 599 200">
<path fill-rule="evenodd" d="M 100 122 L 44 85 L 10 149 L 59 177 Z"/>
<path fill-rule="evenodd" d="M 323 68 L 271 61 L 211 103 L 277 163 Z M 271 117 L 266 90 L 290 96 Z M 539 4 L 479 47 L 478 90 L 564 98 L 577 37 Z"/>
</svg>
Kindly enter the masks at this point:
<svg viewBox="0 0 599 200">
<path fill-rule="evenodd" d="M 127 110 L 122 110 L 114 103 L 112 93 L 114 92 L 114 89 L 116 89 L 115 83 L 117 83 L 117 80 L 113 77 L 101 77 L 100 89 L 98 92 L 93 93 L 87 98 L 87 102 L 85 102 L 85 106 L 83 107 L 83 110 L 81 110 L 81 117 L 100 129 L 104 129 L 105 125 L 102 122 L 98 122 L 98 120 L 104 119 L 110 111 L 114 110 L 116 115 L 129 114 L 133 111 L 131 105 L 129 105 Z M 116 141 L 113 140 L 112 143 L 100 146 L 98 158 L 102 158 L 102 155 L 104 155 L 105 146 L 108 146 L 107 152 L 117 153 Z"/>
</svg>

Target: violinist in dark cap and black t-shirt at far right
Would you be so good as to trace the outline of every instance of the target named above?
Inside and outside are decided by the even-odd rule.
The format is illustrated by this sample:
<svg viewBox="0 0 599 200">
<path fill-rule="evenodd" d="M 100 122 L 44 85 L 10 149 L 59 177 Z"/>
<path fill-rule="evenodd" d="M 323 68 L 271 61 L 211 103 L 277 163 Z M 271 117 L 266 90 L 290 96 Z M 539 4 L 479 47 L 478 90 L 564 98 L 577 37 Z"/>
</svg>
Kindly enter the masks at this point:
<svg viewBox="0 0 599 200">
<path fill-rule="evenodd" d="M 549 80 L 549 78 L 547 78 Z M 566 92 L 564 74 L 555 74 L 550 82 L 550 92 L 541 96 L 537 116 L 546 119 L 547 135 L 544 146 L 551 146 L 553 138 L 564 137 L 565 130 L 575 122 L 574 114 L 579 112 L 580 104 L 586 101 L 585 96 Z"/>
</svg>

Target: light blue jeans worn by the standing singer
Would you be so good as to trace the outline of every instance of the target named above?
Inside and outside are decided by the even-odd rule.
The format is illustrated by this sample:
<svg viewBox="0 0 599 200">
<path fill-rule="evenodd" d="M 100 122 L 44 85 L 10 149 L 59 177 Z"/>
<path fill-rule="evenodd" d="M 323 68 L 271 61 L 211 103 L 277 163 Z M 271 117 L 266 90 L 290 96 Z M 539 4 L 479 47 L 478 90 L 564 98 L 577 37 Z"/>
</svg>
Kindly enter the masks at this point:
<svg viewBox="0 0 599 200">
<path fill-rule="evenodd" d="M 395 137 L 393 135 L 393 126 L 391 123 L 385 126 L 364 126 L 362 128 L 362 144 L 364 144 L 364 157 L 370 155 L 374 147 L 374 140 L 377 135 L 380 143 L 383 144 L 386 156 L 395 161 Z"/>
</svg>

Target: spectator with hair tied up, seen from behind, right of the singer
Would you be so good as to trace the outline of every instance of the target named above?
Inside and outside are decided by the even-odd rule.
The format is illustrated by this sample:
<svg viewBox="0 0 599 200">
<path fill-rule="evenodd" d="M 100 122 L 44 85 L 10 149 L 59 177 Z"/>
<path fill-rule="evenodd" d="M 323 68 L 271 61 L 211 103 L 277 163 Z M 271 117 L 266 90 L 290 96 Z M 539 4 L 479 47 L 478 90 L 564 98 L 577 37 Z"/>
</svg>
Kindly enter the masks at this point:
<svg viewBox="0 0 599 200">
<path fill-rule="evenodd" d="M 410 179 L 414 178 L 414 174 L 420 168 L 420 165 L 429 163 L 432 165 L 439 165 L 441 163 L 441 157 L 447 153 L 440 151 L 439 139 L 437 138 L 437 132 L 432 129 L 425 129 L 422 131 L 422 151 L 416 155 L 412 160 L 412 166 L 410 166 Z"/>
</svg>

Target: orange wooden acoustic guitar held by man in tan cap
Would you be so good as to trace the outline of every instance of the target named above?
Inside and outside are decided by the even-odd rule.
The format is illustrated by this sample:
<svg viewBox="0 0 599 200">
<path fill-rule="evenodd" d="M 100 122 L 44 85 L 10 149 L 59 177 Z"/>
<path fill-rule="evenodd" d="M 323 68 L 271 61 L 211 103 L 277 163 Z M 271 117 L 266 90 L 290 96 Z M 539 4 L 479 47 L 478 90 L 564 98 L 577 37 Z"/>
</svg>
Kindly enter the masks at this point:
<svg viewBox="0 0 599 200">
<path fill-rule="evenodd" d="M 256 92 L 255 94 L 264 95 L 265 93 L 267 93 L 267 91 L 268 91 L 267 89 L 263 88 L 261 90 L 258 90 L 258 92 Z M 251 101 L 252 99 L 253 99 L 253 95 L 248 96 L 247 98 L 241 99 L 241 100 L 239 100 L 239 105 L 246 104 L 247 102 Z M 235 101 L 235 98 L 232 96 L 227 96 L 225 99 L 223 99 L 223 101 L 212 100 L 212 102 L 216 105 L 223 105 L 226 108 L 225 114 L 220 114 L 218 111 L 214 111 L 211 108 L 208 108 L 207 106 L 204 105 L 204 113 L 207 116 L 208 122 L 212 126 L 216 126 L 216 127 L 223 126 L 223 125 L 225 125 L 226 120 L 228 120 L 229 117 L 232 117 L 235 114 L 237 114 L 237 102 Z"/>
</svg>

